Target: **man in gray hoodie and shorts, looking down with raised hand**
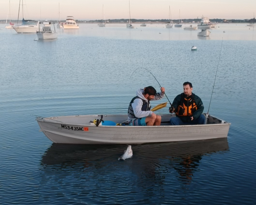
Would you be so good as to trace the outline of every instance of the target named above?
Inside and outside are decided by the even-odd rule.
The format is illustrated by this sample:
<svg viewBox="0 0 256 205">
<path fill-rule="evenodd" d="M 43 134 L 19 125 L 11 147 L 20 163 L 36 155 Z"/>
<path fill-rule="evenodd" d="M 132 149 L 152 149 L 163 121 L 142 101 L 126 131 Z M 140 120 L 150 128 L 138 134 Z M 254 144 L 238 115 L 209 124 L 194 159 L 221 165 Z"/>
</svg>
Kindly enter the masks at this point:
<svg viewBox="0 0 256 205">
<path fill-rule="evenodd" d="M 150 100 L 161 100 L 165 88 L 157 93 L 152 86 L 138 89 L 136 96 L 131 100 L 128 108 L 128 122 L 130 126 L 153 126 L 161 124 L 161 116 L 156 115 L 151 109 Z"/>
</svg>

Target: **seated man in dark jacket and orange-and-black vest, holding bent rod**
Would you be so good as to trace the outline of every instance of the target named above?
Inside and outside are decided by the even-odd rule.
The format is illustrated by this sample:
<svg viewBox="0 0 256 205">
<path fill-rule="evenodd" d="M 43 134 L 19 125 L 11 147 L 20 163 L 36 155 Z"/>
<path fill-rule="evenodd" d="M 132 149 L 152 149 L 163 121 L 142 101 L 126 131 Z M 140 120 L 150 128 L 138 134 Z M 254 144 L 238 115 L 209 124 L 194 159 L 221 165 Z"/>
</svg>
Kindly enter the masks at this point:
<svg viewBox="0 0 256 205">
<path fill-rule="evenodd" d="M 170 113 L 176 117 L 170 119 L 171 125 L 203 125 L 205 117 L 202 115 L 204 105 L 200 97 L 192 93 L 193 86 L 190 82 L 183 83 L 183 93 L 177 95 L 169 108 Z"/>
</svg>

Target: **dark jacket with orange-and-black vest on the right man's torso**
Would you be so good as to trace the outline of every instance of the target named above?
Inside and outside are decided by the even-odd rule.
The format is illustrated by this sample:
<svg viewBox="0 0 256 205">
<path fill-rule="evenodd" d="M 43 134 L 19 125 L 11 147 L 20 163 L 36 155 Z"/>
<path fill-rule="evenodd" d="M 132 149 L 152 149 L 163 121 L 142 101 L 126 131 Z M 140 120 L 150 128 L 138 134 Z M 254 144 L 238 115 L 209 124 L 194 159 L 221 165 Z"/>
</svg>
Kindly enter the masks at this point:
<svg viewBox="0 0 256 205">
<path fill-rule="evenodd" d="M 183 122 L 190 122 L 191 117 L 197 119 L 204 111 L 204 105 L 200 97 L 192 93 L 186 96 L 184 93 L 177 95 L 172 103 L 175 114 Z"/>
</svg>

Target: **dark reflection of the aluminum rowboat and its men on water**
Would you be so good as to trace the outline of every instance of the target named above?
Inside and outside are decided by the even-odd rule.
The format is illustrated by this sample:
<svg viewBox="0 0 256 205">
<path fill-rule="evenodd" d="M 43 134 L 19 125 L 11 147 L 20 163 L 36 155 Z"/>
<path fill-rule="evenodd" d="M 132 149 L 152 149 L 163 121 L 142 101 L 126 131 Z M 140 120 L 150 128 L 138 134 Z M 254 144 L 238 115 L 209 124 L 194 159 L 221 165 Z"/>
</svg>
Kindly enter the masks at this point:
<svg viewBox="0 0 256 205">
<path fill-rule="evenodd" d="M 52 144 L 42 155 L 41 165 L 45 174 L 76 175 L 100 180 L 106 177 L 137 175 L 137 182 L 157 183 L 165 176 L 178 177 L 181 183 L 191 182 L 193 173 L 200 169 L 200 160 L 216 152 L 228 151 L 227 138 L 158 144 L 133 145 L 133 157 L 118 161 L 124 145 L 75 145 Z M 128 172 L 128 173 L 127 173 Z M 122 174 L 121 174 L 122 173 Z M 178 173 L 178 174 L 177 174 Z M 174 179 L 175 179 L 174 178 Z"/>
</svg>

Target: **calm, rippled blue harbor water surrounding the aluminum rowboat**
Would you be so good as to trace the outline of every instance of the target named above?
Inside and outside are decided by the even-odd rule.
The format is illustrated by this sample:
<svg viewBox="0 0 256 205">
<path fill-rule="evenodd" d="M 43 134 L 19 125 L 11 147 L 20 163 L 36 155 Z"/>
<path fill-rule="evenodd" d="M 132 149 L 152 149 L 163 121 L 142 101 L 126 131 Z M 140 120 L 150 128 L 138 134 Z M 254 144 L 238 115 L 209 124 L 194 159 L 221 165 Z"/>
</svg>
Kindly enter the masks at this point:
<svg viewBox="0 0 256 205">
<path fill-rule="evenodd" d="M 256 31 L 80 27 L 45 42 L 0 30 L 0 204 L 254 204 Z M 130 77 L 140 67 L 171 102 L 192 82 L 207 112 L 222 38 L 210 114 L 232 123 L 227 139 L 134 145 L 118 161 L 126 145 L 56 145 L 39 132 L 36 116 L 126 113 L 138 88 L 159 90 L 144 69 Z"/>
</svg>

